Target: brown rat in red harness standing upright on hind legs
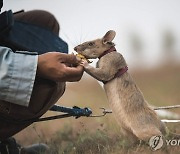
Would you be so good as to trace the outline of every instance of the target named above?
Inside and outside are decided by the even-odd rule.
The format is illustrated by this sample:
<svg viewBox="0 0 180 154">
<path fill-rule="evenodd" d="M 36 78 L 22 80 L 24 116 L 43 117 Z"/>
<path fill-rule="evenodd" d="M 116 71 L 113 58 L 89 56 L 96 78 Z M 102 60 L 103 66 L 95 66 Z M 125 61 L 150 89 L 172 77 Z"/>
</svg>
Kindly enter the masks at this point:
<svg viewBox="0 0 180 154">
<path fill-rule="evenodd" d="M 102 38 L 84 42 L 74 48 L 86 59 L 99 58 L 96 68 L 81 61 L 85 72 L 104 83 L 104 90 L 116 120 L 130 140 L 149 141 L 163 136 L 164 124 L 148 105 L 128 72 L 127 63 L 112 42 L 116 32 L 109 30 Z"/>
</svg>

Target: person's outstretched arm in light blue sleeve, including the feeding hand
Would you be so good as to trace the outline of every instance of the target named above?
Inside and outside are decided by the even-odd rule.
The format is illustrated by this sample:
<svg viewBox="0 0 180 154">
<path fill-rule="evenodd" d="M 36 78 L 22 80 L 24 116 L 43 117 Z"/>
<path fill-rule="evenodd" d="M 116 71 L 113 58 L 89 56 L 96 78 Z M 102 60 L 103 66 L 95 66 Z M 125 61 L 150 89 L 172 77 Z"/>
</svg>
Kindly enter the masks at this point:
<svg viewBox="0 0 180 154">
<path fill-rule="evenodd" d="M 14 53 L 0 46 L 0 100 L 28 106 L 36 76 L 55 82 L 79 81 L 84 70 L 78 63 L 75 55 Z"/>
</svg>

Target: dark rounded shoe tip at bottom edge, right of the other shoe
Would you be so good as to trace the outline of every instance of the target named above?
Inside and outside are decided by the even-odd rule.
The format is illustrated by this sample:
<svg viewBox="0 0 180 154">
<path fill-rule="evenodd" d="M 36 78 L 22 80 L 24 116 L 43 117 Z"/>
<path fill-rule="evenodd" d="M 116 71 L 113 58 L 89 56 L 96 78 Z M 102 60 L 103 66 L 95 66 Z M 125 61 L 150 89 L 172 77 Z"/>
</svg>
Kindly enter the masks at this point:
<svg viewBox="0 0 180 154">
<path fill-rule="evenodd" d="M 44 154 L 49 153 L 50 148 L 43 143 L 22 147 L 20 154 Z"/>
</svg>

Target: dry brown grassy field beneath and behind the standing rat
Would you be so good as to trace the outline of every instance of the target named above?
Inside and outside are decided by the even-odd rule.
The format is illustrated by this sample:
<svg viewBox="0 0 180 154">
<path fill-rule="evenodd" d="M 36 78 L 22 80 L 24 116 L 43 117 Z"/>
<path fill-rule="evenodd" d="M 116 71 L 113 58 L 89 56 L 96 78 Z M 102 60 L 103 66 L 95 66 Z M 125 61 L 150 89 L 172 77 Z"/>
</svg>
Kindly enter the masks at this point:
<svg viewBox="0 0 180 154">
<path fill-rule="evenodd" d="M 146 100 L 155 106 L 180 104 L 180 66 L 163 65 L 156 69 L 129 70 Z M 90 107 L 100 114 L 100 107 L 109 109 L 106 95 L 96 80 L 84 75 L 78 83 L 67 83 L 66 92 L 58 101 L 63 106 Z M 180 109 L 172 112 L 180 114 Z M 56 113 L 48 112 L 47 115 Z M 171 132 L 180 134 L 180 123 L 168 123 Z M 180 146 L 167 146 L 152 152 L 146 144 L 128 146 L 121 136 L 112 114 L 101 118 L 66 118 L 34 123 L 16 136 L 22 145 L 44 142 L 52 154 L 178 154 Z M 169 135 L 166 139 L 172 139 Z"/>
</svg>

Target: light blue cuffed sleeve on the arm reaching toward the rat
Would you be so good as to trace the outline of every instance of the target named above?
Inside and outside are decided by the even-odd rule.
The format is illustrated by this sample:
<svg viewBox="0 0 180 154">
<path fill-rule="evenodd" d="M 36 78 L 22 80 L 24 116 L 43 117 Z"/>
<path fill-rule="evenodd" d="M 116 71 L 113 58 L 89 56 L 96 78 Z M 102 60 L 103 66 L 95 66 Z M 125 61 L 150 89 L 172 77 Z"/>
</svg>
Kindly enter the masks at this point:
<svg viewBox="0 0 180 154">
<path fill-rule="evenodd" d="M 38 55 L 12 52 L 0 46 L 0 100 L 28 106 L 36 76 Z"/>
</svg>

